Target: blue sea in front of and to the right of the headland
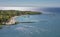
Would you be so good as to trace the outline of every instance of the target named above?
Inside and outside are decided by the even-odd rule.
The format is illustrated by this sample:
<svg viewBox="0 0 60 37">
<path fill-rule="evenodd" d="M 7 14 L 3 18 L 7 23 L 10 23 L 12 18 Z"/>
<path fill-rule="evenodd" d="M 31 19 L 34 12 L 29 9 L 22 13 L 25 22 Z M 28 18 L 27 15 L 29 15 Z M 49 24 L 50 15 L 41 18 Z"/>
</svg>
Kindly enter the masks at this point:
<svg viewBox="0 0 60 37">
<path fill-rule="evenodd" d="M 44 11 L 51 14 L 29 15 L 29 17 L 24 15 L 16 18 L 20 22 L 36 23 L 3 26 L 0 29 L 0 37 L 60 37 L 60 9 L 49 8 L 44 9 Z"/>
</svg>

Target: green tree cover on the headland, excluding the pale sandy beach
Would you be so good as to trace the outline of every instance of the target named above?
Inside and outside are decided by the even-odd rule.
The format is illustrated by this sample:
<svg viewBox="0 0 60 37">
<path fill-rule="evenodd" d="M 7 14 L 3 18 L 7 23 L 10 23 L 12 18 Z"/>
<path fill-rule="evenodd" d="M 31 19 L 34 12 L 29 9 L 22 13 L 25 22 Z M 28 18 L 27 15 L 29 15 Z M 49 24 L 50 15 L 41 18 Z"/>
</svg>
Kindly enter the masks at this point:
<svg viewBox="0 0 60 37">
<path fill-rule="evenodd" d="M 0 10 L 0 25 L 8 22 L 11 17 L 20 16 L 20 15 L 35 15 L 41 14 L 41 12 L 33 11 L 18 11 L 18 10 Z"/>
</svg>

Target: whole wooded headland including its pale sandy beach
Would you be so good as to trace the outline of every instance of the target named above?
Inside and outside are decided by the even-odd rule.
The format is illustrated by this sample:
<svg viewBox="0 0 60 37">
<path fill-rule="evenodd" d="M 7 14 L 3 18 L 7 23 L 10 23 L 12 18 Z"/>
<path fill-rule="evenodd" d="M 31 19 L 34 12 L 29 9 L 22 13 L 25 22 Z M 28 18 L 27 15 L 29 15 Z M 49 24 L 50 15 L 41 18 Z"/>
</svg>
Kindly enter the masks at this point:
<svg viewBox="0 0 60 37">
<path fill-rule="evenodd" d="M 15 18 L 21 15 L 38 15 L 42 12 L 34 11 L 18 11 L 18 10 L 0 10 L 0 25 L 8 25 L 18 23 Z"/>
</svg>

